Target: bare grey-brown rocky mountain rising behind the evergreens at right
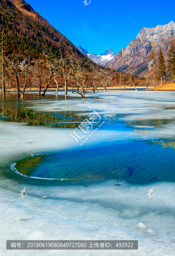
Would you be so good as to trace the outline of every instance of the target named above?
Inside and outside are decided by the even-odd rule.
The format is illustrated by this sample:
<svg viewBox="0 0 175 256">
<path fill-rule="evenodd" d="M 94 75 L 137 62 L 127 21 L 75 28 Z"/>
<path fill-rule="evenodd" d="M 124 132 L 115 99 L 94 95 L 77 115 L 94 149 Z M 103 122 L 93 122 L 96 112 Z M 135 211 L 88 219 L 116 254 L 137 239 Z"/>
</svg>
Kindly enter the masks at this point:
<svg viewBox="0 0 175 256">
<path fill-rule="evenodd" d="M 152 47 L 155 57 L 158 57 L 160 47 L 167 60 L 167 52 L 171 41 L 175 42 L 175 23 L 171 21 L 166 25 L 158 25 L 155 28 L 143 28 L 127 47 L 121 49 L 105 67 L 128 72 L 130 69 L 137 75 L 144 76 Z"/>
</svg>

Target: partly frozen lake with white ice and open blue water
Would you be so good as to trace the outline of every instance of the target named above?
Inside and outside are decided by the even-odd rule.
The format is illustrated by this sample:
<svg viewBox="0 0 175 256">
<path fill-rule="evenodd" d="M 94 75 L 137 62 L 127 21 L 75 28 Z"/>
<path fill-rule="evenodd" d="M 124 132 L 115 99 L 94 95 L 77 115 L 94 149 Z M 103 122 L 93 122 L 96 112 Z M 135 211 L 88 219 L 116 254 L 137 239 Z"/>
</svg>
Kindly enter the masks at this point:
<svg viewBox="0 0 175 256">
<path fill-rule="evenodd" d="M 89 255 L 174 256 L 175 92 L 11 94 L 0 98 L 0 145 L 2 255 L 22 255 L 6 250 L 21 239 L 138 240 Z"/>
</svg>

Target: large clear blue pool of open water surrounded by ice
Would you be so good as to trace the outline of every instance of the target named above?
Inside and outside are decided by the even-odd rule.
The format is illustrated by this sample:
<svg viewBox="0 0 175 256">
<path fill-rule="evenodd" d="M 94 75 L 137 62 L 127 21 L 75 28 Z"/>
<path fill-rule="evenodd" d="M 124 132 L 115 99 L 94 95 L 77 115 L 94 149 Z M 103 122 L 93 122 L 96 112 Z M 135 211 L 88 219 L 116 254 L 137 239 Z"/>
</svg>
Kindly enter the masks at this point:
<svg viewBox="0 0 175 256">
<path fill-rule="evenodd" d="M 157 143 L 160 143 L 158 145 Z M 17 161 L 18 172 L 68 180 L 124 179 L 133 183 L 175 181 L 175 150 L 155 142 L 116 143 L 113 147 L 55 153 Z M 112 152 L 112 154 L 111 154 Z M 171 175 L 167 176 L 167 171 Z"/>
</svg>

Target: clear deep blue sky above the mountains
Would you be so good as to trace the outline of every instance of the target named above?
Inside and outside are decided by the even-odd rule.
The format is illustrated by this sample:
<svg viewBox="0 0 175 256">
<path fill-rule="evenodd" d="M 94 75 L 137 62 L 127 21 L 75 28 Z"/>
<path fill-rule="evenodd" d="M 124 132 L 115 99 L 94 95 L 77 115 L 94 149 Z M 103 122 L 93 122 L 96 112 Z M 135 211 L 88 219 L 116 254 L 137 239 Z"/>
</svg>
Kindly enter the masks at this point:
<svg viewBox="0 0 175 256">
<path fill-rule="evenodd" d="M 136 38 L 142 27 L 175 22 L 175 1 L 172 0 L 91 0 L 88 6 L 82 0 L 26 2 L 74 45 L 80 44 L 96 54 L 109 47 L 119 52 Z"/>
</svg>

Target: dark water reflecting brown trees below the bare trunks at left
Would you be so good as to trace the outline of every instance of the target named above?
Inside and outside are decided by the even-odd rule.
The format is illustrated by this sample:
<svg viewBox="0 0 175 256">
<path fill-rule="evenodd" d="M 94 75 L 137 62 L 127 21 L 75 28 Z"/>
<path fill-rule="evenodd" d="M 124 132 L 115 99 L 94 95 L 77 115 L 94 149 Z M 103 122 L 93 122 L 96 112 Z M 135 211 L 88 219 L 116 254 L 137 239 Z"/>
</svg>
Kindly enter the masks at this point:
<svg viewBox="0 0 175 256">
<path fill-rule="evenodd" d="M 15 95 L 7 95 L 6 99 L 0 98 L 0 119 L 7 122 L 25 122 L 30 126 L 53 126 L 58 128 L 76 128 L 79 124 L 78 122 L 83 121 L 82 117 L 74 116 L 73 111 L 57 111 L 59 108 L 53 108 L 53 112 L 45 113 L 34 111 L 30 109 L 33 102 L 37 101 L 38 104 L 45 102 L 43 97 L 37 97 L 36 95 L 26 95 L 26 99 L 16 99 Z M 55 100 L 59 102 L 62 97 L 58 95 L 48 95 L 48 100 Z M 68 100 L 72 99 L 70 96 L 67 97 Z M 74 97 L 77 99 L 77 97 Z M 94 97 L 95 98 L 95 97 Z M 30 100 L 30 101 L 28 101 Z M 80 111 L 81 112 L 81 111 Z M 85 112 L 85 111 L 82 111 Z M 64 123 L 66 121 L 66 123 Z M 70 121 L 70 123 L 67 123 Z M 71 123 L 71 122 L 77 122 Z"/>
</svg>

